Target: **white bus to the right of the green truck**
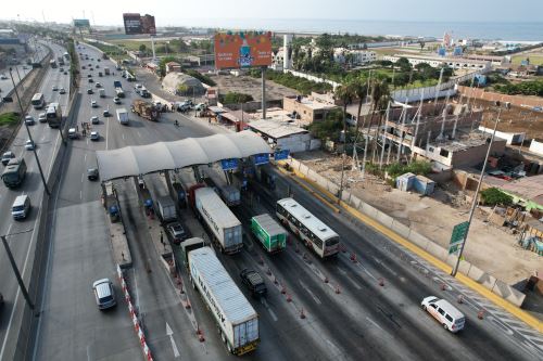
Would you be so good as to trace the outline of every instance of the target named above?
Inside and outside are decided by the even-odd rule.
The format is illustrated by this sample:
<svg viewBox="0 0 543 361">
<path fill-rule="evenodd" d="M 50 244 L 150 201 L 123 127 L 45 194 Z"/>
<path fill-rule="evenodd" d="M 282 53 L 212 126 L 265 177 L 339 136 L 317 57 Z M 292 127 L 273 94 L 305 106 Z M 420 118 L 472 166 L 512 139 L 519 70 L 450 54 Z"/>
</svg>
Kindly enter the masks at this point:
<svg viewBox="0 0 543 361">
<path fill-rule="evenodd" d="M 292 198 L 277 201 L 279 220 L 320 258 L 337 255 L 339 235 Z"/>
</svg>

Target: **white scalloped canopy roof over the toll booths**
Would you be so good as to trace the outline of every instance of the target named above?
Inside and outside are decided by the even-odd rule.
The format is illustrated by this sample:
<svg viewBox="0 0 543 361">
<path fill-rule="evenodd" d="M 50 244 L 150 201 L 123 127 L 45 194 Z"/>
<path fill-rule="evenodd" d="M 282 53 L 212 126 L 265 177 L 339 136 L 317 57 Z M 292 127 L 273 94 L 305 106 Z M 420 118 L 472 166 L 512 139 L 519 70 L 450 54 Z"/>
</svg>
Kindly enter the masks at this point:
<svg viewBox="0 0 543 361">
<path fill-rule="evenodd" d="M 108 181 L 264 153 L 272 153 L 266 141 L 245 130 L 239 133 L 98 151 L 97 159 L 100 179 Z"/>
</svg>

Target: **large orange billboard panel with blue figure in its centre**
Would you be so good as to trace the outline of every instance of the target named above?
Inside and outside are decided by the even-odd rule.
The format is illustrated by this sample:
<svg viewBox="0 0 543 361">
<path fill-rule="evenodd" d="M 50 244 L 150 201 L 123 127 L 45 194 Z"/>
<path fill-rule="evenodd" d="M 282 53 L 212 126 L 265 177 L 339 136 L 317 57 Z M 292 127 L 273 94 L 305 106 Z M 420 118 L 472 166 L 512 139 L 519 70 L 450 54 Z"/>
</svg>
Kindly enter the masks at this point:
<svg viewBox="0 0 543 361">
<path fill-rule="evenodd" d="M 272 65 L 272 33 L 215 34 L 215 67 L 242 68 Z"/>
</svg>

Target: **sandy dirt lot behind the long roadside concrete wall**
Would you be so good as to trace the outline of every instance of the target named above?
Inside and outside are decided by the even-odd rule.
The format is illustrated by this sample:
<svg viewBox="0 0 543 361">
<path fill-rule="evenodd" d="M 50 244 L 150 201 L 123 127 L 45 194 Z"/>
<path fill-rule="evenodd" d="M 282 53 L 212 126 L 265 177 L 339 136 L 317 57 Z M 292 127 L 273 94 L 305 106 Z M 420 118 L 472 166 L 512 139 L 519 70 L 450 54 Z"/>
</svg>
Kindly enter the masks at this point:
<svg viewBox="0 0 543 361">
<path fill-rule="evenodd" d="M 298 153 L 296 159 L 339 184 L 341 157 L 311 152 Z M 350 166 L 350 159 L 345 164 Z M 453 227 L 468 219 L 469 197 L 466 199 L 466 194 L 458 192 L 453 185 L 447 189 L 437 188 L 431 197 L 421 197 L 416 193 L 392 189 L 371 175 L 366 173 L 363 180 L 359 170 L 345 171 L 344 179 L 348 189 L 357 197 L 442 247 L 449 245 Z M 535 270 L 543 273 L 542 258 L 518 247 L 516 236 L 505 228 L 484 222 L 484 215 L 481 209 L 476 212 L 464 253 L 466 260 L 509 284 L 527 279 Z"/>
</svg>

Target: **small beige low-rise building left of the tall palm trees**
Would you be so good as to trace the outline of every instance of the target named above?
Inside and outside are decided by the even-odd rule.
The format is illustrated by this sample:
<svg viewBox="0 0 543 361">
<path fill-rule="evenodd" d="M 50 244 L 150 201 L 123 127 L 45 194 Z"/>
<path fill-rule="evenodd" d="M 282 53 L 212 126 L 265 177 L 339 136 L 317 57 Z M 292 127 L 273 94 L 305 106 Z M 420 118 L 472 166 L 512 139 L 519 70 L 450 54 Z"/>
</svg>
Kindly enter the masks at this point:
<svg viewBox="0 0 543 361">
<path fill-rule="evenodd" d="M 302 124 L 310 125 L 313 121 L 324 120 L 326 114 L 338 108 L 336 104 L 318 101 L 312 96 L 285 96 L 282 108 Z"/>
</svg>

